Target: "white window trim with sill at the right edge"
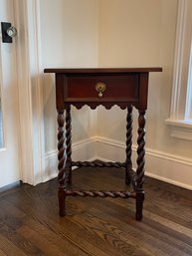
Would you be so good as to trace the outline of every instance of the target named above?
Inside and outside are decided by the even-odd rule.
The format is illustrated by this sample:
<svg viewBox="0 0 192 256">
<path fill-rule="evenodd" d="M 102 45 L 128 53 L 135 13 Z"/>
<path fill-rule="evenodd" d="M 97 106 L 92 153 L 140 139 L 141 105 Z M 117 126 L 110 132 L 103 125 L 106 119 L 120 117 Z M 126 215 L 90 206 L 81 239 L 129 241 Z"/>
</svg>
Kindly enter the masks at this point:
<svg viewBox="0 0 192 256">
<path fill-rule="evenodd" d="M 192 140 L 190 114 L 191 89 L 188 82 L 191 52 L 192 2 L 179 0 L 175 38 L 175 60 L 172 83 L 170 118 L 165 123 L 171 127 L 171 136 Z"/>
</svg>

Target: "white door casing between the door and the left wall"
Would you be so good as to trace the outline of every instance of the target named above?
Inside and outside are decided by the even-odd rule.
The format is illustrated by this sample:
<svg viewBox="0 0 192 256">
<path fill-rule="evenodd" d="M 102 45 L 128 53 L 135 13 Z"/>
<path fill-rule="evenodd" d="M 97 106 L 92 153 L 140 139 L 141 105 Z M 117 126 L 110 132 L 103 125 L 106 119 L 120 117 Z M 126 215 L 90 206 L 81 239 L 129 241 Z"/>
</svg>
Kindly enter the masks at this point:
<svg viewBox="0 0 192 256">
<path fill-rule="evenodd" d="M 39 0 L 14 0 L 19 111 L 21 179 L 42 182 L 44 121 L 41 87 L 41 34 Z"/>
</svg>

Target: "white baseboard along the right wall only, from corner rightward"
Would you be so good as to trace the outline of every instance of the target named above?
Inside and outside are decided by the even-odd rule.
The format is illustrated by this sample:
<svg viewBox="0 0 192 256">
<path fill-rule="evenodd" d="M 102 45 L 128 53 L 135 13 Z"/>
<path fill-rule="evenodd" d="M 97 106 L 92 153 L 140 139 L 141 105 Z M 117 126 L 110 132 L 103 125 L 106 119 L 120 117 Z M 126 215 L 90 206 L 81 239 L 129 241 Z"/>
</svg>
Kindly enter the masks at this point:
<svg viewBox="0 0 192 256">
<path fill-rule="evenodd" d="M 125 144 L 107 137 L 97 137 L 97 158 L 124 161 Z M 133 167 L 136 167 L 136 145 L 132 146 Z M 192 190 L 192 159 L 145 148 L 145 174 Z"/>
</svg>

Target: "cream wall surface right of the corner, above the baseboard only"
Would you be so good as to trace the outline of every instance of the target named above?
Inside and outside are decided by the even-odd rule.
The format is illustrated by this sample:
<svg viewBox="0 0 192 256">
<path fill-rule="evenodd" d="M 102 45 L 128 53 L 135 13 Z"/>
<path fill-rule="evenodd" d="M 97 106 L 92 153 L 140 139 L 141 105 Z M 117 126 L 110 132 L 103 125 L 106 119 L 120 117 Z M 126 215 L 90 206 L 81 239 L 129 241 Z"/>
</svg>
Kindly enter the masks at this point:
<svg viewBox="0 0 192 256">
<path fill-rule="evenodd" d="M 192 143 L 170 137 L 164 123 L 170 109 L 177 1 L 103 0 L 100 3 L 99 66 L 163 68 L 162 74 L 150 75 L 146 146 L 192 157 Z M 125 112 L 117 108 L 110 114 L 100 108 L 98 124 L 102 126 L 98 127 L 98 134 L 123 141 L 124 117 Z"/>
</svg>

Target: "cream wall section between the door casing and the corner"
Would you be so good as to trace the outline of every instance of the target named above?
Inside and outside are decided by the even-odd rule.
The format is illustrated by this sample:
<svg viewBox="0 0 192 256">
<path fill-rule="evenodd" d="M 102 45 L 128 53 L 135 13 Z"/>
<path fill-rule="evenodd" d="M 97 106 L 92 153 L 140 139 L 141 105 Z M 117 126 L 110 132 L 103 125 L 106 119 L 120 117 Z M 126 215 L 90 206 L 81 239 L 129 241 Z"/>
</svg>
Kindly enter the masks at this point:
<svg viewBox="0 0 192 256">
<path fill-rule="evenodd" d="M 98 57 L 98 2 L 96 0 L 41 0 L 41 41 L 43 68 L 96 67 Z M 56 148 L 57 124 L 54 77 L 46 75 L 44 117 L 46 151 Z M 96 113 L 96 112 L 95 112 Z M 74 108 L 73 141 L 95 134 L 90 110 Z"/>
</svg>

